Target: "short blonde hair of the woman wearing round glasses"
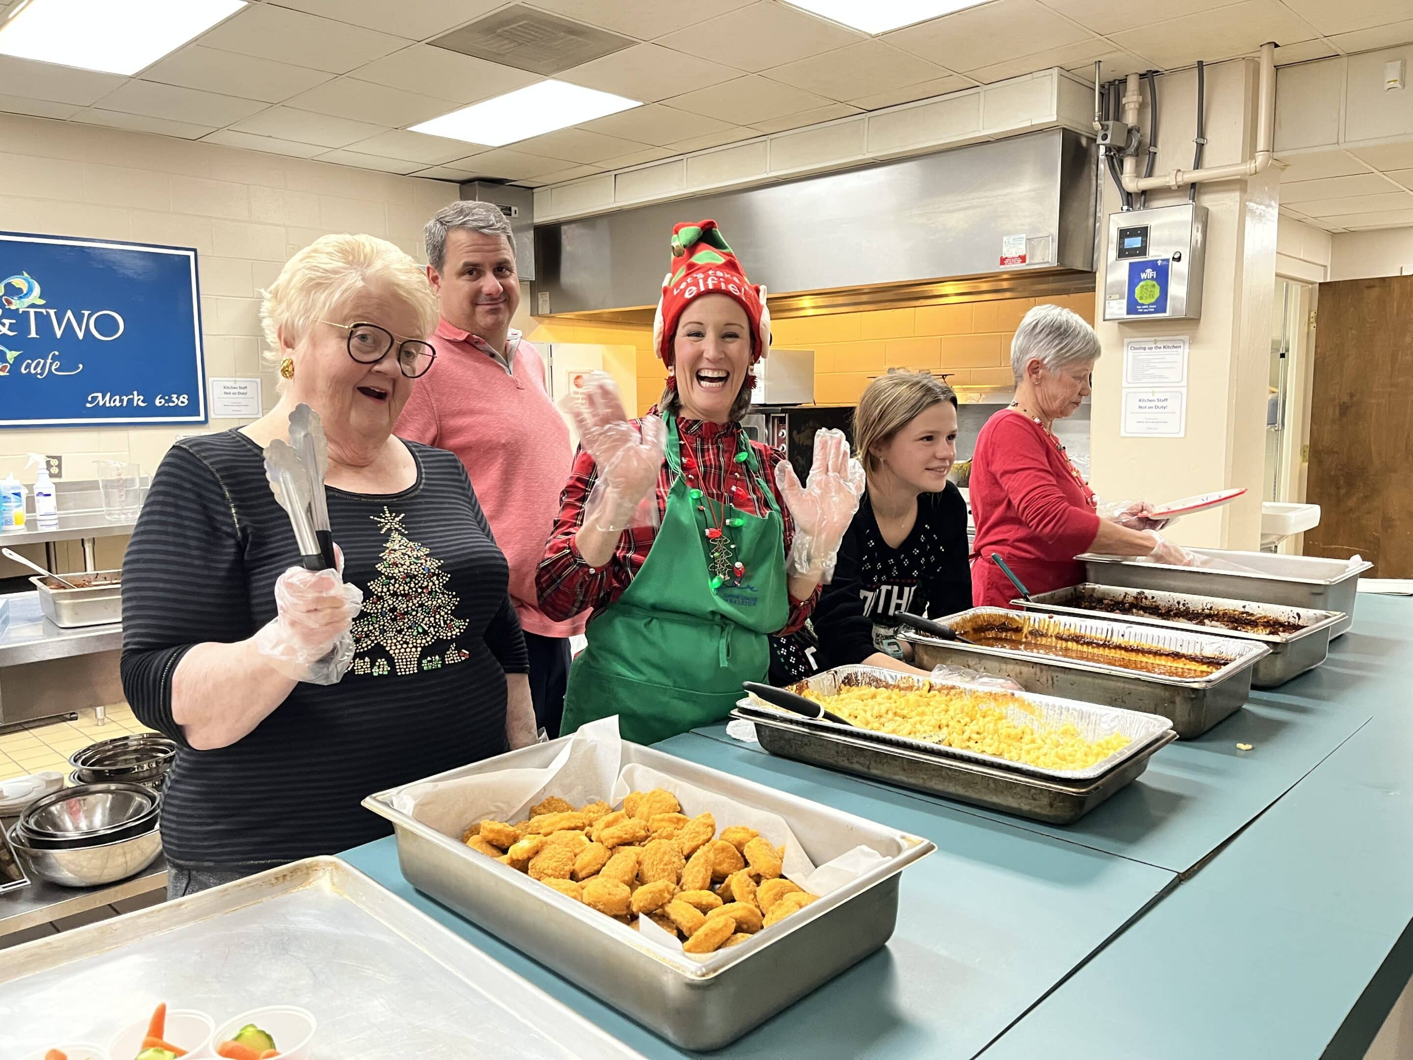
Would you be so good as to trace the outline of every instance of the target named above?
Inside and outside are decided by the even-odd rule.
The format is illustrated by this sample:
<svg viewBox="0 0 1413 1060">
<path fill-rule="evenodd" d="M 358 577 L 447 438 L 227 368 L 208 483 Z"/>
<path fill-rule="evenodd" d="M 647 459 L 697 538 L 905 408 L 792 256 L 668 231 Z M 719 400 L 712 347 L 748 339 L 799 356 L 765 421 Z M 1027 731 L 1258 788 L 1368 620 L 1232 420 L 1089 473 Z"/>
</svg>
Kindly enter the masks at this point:
<svg viewBox="0 0 1413 1060">
<path fill-rule="evenodd" d="M 276 281 L 260 293 L 266 359 L 277 365 L 284 356 L 281 329 L 298 342 L 317 321 L 331 319 L 343 302 L 373 284 L 384 284 L 417 312 L 421 332 L 415 338 L 432 334 L 441 312 L 437 294 L 407 253 L 377 236 L 319 236 L 285 261 Z"/>
</svg>

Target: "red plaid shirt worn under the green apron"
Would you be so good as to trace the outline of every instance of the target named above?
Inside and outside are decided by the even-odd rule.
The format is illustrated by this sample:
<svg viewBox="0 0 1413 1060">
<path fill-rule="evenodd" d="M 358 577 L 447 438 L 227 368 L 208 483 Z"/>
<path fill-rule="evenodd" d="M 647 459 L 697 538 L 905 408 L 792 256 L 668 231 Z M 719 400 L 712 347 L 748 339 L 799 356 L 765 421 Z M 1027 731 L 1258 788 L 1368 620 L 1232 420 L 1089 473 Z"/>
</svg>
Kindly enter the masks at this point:
<svg viewBox="0 0 1413 1060">
<path fill-rule="evenodd" d="M 634 420 L 633 423 L 637 425 L 640 421 Z M 684 454 L 684 462 L 697 468 L 706 496 L 721 503 L 726 496 L 728 476 L 735 469 L 740 424 L 715 424 L 678 417 L 677 432 L 682 447 L 690 454 Z M 794 538 L 794 520 L 790 519 L 786 502 L 776 486 L 776 465 L 784 459 L 784 454 L 760 442 L 752 442 L 752 447 L 762 459 L 764 471 L 762 478 L 769 483 L 776 505 L 780 507 L 780 516 L 784 519 L 784 548 L 786 555 L 788 555 L 790 541 Z M 567 620 L 586 608 L 605 608 L 623 595 L 623 589 L 647 560 L 647 550 L 653 547 L 653 538 L 657 537 L 656 527 L 629 527 L 619 536 L 617 547 L 608 564 L 589 567 L 575 548 L 574 536 L 584 524 L 584 502 L 588 499 L 589 490 L 593 489 L 596 476 L 598 468 L 593 465 L 593 458 L 579 449 L 574 457 L 569 481 L 560 499 L 560 517 L 554 524 L 554 533 L 550 536 L 550 544 L 545 547 L 540 568 L 536 571 L 540 608 L 557 620 Z M 660 516 L 667 510 L 667 495 L 671 489 L 673 472 L 664 459 L 657 475 L 657 512 Z M 770 505 L 756 485 L 753 475 L 746 476 L 746 496 L 732 496 L 731 503 L 742 512 L 756 516 L 764 516 L 770 512 Z M 780 633 L 793 633 L 800 629 L 818 596 L 820 589 L 815 589 L 807 601 L 797 601 L 791 596 L 790 618 Z"/>
</svg>

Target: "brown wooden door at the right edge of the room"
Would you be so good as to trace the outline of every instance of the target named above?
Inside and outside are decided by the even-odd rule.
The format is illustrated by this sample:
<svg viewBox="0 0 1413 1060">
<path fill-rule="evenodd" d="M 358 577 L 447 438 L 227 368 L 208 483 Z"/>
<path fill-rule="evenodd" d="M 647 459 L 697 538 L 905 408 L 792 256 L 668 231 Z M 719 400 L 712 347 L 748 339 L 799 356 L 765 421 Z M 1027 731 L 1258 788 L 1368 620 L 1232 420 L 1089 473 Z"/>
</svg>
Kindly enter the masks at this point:
<svg viewBox="0 0 1413 1060">
<path fill-rule="evenodd" d="M 1306 555 L 1413 578 L 1413 276 L 1320 284 Z"/>
</svg>

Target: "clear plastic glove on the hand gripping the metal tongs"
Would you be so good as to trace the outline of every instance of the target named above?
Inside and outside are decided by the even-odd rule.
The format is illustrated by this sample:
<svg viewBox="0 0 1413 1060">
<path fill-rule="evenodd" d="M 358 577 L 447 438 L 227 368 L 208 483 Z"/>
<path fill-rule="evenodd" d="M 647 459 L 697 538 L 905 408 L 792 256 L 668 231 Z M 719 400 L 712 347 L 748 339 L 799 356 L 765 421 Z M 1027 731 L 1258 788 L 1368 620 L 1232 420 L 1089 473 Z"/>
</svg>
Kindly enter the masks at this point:
<svg viewBox="0 0 1413 1060">
<path fill-rule="evenodd" d="M 256 650 L 295 681 L 338 684 L 353 661 L 363 591 L 338 571 L 291 567 L 274 584 L 274 602 L 278 613 L 256 633 Z"/>
</svg>

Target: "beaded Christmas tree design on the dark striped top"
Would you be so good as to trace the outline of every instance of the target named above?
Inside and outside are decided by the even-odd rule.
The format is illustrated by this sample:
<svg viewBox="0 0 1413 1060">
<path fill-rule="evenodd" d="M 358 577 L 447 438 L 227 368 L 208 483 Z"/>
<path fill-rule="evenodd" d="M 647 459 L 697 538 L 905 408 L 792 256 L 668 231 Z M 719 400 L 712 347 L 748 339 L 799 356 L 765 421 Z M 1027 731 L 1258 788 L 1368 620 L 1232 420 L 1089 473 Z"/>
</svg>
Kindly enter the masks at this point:
<svg viewBox="0 0 1413 1060">
<path fill-rule="evenodd" d="M 441 560 L 403 533 L 404 512 L 394 514 L 384 505 L 380 514 L 370 517 L 389 537 L 377 577 L 369 581 L 363 611 L 353 622 L 353 673 L 403 676 L 463 661 L 469 653 L 456 646 L 456 637 L 466 629 L 466 619 L 455 615 L 461 596 L 447 589 L 451 575 Z M 442 642 L 449 642 L 445 650 Z M 386 656 L 374 659 L 377 649 Z"/>
</svg>

